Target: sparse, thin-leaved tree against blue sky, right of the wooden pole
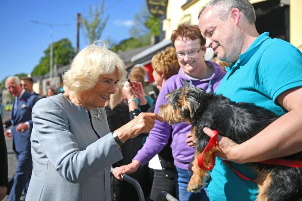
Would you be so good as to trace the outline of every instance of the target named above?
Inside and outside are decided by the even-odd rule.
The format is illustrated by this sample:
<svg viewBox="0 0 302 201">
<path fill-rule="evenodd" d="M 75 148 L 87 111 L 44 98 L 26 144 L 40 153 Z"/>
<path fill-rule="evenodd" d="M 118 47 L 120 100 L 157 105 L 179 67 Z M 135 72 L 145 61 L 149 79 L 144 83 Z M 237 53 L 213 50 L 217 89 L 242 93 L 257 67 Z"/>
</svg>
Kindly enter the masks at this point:
<svg viewBox="0 0 302 201">
<path fill-rule="evenodd" d="M 99 10 L 98 5 L 89 7 L 89 17 L 81 17 L 81 27 L 90 43 L 101 38 L 108 19 L 109 15 L 104 18 L 104 1 Z"/>
</svg>

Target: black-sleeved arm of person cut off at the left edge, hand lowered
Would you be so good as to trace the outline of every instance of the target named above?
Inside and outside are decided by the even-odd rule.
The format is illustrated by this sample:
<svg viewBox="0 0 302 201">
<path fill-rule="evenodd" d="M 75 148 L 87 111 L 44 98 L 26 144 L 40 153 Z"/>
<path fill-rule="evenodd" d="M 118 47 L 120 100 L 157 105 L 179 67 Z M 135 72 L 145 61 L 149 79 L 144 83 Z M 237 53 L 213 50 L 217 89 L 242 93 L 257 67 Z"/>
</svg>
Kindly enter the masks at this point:
<svg viewBox="0 0 302 201">
<path fill-rule="evenodd" d="M 2 117 L 0 115 L 0 121 Z M 6 185 L 8 184 L 7 149 L 3 126 L 0 127 L 0 200 L 6 196 Z"/>
</svg>

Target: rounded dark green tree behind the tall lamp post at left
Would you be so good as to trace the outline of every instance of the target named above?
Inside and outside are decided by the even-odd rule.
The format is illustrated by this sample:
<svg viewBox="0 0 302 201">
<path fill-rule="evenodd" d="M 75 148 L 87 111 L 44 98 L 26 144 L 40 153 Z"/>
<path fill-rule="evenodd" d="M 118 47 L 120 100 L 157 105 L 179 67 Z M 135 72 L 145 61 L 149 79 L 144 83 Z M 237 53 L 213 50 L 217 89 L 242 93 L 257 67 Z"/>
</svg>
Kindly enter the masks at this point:
<svg viewBox="0 0 302 201">
<path fill-rule="evenodd" d="M 49 73 L 49 61 L 50 61 L 50 45 L 44 51 L 44 56 L 40 59 L 40 62 L 31 72 L 32 76 L 41 76 Z M 71 42 L 67 39 L 61 39 L 53 43 L 53 63 L 55 58 L 58 59 L 58 65 L 67 65 L 70 60 L 75 56 L 75 49 L 71 45 Z"/>
</svg>

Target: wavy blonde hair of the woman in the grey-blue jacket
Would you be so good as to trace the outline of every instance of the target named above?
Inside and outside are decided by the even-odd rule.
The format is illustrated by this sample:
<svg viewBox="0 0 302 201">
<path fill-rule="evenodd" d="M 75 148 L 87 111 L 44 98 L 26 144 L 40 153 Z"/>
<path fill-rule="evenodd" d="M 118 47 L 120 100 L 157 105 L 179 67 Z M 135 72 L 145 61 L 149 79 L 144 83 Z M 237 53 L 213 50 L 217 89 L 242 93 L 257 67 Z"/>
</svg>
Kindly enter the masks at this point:
<svg viewBox="0 0 302 201">
<path fill-rule="evenodd" d="M 100 45 L 98 45 L 100 43 Z M 120 83 L 126 80 L 126 67 L 116 53 L 108 50 L 108 43 L 96 41 L 85 47 L 73 59 L 63 77 L 64 91 L 77 94 L 92 89 L 101 75 L 119 71 Z"/>
</svg>

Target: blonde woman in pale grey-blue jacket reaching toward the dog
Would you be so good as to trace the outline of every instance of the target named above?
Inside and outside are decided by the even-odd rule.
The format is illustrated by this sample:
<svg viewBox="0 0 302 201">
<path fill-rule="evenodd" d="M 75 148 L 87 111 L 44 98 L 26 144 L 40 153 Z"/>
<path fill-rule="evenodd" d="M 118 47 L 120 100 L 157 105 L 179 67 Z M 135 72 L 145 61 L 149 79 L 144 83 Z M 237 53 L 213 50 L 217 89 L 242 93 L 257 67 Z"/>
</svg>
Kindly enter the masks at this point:
<svg viewBox="0 0 302 201">
<path fill-rule="evenodd" d="M 114 132 L 103 108 L 125 80 L 125 65 L 104 45 L 92 44 L 64 74 L 64 94 L 44 98 L 32 111 L 33 172 L 26 200 L 111 200 L 110 167 L 120 146 L 148 133 L 154 113 L 142 113 Z"/>
</svg>

